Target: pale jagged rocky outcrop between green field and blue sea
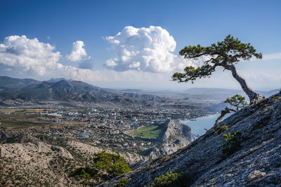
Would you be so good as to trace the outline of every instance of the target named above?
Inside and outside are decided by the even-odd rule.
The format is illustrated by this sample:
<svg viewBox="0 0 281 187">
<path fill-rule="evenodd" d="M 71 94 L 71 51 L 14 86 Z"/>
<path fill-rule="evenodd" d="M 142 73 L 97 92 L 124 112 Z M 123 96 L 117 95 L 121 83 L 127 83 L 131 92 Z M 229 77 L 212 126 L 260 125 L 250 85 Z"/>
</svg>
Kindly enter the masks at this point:
<svg viewBox="0 0 281 187">
<path fill-rule="evenodd" d="M 167 120 L 164 126 L 166 126 L 166 131 L 160 138 L 162 143 L 152 149 L 151 159 L 174 153 L 195 140 L 195 135 L 192 134 L 190 127 L 178 120 Z"/>
</svg>

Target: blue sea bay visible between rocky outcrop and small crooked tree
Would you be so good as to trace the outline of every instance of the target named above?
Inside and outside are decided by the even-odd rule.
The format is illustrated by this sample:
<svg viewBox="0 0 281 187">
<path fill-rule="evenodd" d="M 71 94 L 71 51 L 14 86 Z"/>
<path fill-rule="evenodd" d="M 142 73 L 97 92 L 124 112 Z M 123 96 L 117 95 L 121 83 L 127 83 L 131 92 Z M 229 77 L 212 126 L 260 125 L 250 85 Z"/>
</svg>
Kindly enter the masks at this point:
<svg viewBox="0 0 281 187">
<path fill-rule="evenodd" d="M 195 119 L 195 121 L 188 120 L 188 121 L 185 121 L 182 123 L 188 125 L 193 134 L 195 134 L 196 136 L 201 136 L 201 135 L 205 134 L 205 132 L 206 132 L 205 129 L 211 129 L 211 127 L 214 126 L 216 119 L 218 119 L 218 117 L 220 115 L 221 114 L 208 115 L 205 117 L 197 118 L 197 119 Z M 227 114 L 225 117 L 223 117 L 223 120 L 226 119 L 227 117 L 229 117 L 230 115 L 232 115 L 232 113 Z"/>
</svg>

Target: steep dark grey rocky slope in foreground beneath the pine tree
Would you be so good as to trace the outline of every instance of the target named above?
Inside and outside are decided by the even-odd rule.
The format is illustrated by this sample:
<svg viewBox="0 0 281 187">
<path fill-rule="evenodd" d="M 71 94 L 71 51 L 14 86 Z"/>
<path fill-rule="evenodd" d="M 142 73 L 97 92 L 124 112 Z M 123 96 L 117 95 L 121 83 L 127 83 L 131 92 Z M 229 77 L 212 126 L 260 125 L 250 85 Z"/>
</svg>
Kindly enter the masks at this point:
<svg viewBox="0 0 281 187">
<path fill-rule="evenodd" d="M 223 154 L 226 140 L 209 130 L 182 150 L 100 186 L 115 186 L 120 178 L 129 180 L 127 186 L 150 186 L 170 171 L 188 174 L 186 186 L 280 186 L 281 93 L 235 112 L 221 125 L 228 126 L 223 134 L 242 134 L 233 153 Z"/>
</svg>

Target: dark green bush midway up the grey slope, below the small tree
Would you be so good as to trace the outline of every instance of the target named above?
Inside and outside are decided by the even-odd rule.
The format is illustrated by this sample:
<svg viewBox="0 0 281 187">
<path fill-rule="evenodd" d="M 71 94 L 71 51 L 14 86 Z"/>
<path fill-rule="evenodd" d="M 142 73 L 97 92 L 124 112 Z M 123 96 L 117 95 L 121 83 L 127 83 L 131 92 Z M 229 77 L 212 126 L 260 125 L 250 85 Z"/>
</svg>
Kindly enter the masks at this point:
<svg viewBox="0 0 281 187">
<path fill-rule="evenodd" d="M 221 144 L 221 146 L 223 146 L 223 154 L 225 156 L 231 155 L 240 149 L 242 141 L 242 133 L 240 131 L 236 131 L 235 134 L 230 134 L 230 132 L 223 134 L 223 138 L 225 138 L 226 143 Z"/>
</svg>

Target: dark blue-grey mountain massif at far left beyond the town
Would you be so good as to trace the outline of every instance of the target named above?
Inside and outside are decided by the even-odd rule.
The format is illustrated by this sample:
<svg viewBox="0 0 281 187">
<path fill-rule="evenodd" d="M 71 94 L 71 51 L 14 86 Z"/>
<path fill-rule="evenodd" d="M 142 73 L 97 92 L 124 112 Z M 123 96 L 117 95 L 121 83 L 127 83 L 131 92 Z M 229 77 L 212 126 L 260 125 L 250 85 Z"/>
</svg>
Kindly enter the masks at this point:
<svg viewBox="0 0 281 187">
<path fill-rule="evenodd" d="M 7 84 L 6 84 L 6 83 Z M 33 79 L 1 77 L 1 101 L 91 101 L 110 100 L 112 93 L 84 82 L 66 79 L 39 82 Z"/>
</svg>

